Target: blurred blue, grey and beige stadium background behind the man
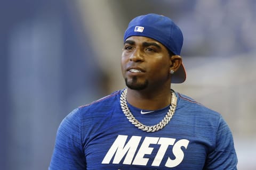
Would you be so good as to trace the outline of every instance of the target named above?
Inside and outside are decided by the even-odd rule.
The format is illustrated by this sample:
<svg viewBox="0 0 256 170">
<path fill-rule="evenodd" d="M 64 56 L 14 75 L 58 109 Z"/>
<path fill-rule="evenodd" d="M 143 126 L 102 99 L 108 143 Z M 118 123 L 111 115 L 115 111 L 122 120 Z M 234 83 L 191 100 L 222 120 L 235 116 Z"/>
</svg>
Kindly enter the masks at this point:
<svg viewBox="0 0 256 170">
<path fill-rule="evenodd" d="M 256 169 L 254 0 L 2 0 L 0 169 L 47 169 L 61 120 L 124 88 L 123 32 L 146 13 L 183 31 L 187 81 L 172 88 L 220 112 L 238 169 Z"/>
</svg>

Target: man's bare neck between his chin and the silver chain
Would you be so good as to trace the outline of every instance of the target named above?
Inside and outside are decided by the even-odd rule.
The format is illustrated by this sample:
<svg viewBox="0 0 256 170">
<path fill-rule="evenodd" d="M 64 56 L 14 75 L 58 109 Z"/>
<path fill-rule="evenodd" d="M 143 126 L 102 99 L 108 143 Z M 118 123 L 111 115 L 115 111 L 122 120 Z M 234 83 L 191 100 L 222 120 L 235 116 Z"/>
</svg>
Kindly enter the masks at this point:
<svg viewBox="0 0 256 170">
<path fill-rule="evenodd" d="M 171 103 L 171 89 L 161 90 L 132 90 L 127 88 L 126 100 L 134 107 L 147 110 L 157 110 Z"/>
</svg>

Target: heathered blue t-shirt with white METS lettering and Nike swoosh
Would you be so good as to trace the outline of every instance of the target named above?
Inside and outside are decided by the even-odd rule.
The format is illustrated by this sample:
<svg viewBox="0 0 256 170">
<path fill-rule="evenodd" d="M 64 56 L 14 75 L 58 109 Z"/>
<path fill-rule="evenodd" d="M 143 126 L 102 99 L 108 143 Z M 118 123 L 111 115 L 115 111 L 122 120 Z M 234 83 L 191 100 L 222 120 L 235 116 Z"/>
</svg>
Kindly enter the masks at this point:
<svg viewBox="0 0 256 170">
<path fill-rule="evenodd" d="M 61 122 L 49 169 L 237 169 L 233 137 L 219 113 L 175 92 L 171 121 L 145 132 L 127 120 L 121 92 L 78 107 Z M 128 106 L 148 126 L 159 123 L 169 109 L 141 114 Z"/>
</svg>

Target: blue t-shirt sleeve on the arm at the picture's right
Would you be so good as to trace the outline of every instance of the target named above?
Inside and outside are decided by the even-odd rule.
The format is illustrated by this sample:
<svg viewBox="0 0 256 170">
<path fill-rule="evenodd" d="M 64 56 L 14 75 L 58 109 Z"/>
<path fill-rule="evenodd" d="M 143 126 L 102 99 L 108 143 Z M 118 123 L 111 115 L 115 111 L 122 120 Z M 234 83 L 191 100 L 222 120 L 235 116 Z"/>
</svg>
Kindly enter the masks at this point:
<svg viewBox="0 0 256 170">
<path fill-rule="evenodd" d="M 236 170 L 237 156 L 233 135 L 222 117 L 219 120 L 216 139 L 215 149 L 207 156 L 204 169 Z"/>
</svg>

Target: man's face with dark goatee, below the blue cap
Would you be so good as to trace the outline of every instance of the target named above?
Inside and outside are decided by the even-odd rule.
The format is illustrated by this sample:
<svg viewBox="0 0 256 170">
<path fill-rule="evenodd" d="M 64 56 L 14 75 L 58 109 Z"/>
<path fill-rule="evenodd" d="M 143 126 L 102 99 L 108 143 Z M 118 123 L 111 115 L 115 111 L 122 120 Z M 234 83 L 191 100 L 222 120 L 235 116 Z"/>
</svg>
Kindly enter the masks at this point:
<svg viewBox="0 0 256 170">
<path fill-rule="evenodd" d="M 121 68 L 126 86 L 134 90 L 170 86 L 171 57 L 158 41 L 132 36 L 125 40 Z"/>
</svg>

